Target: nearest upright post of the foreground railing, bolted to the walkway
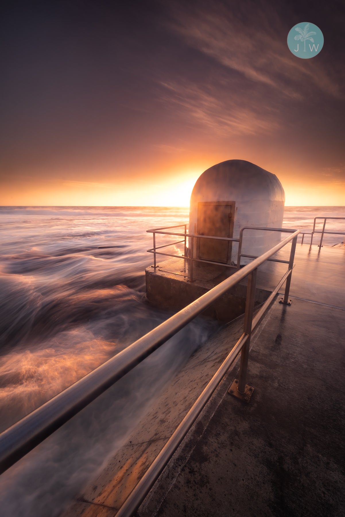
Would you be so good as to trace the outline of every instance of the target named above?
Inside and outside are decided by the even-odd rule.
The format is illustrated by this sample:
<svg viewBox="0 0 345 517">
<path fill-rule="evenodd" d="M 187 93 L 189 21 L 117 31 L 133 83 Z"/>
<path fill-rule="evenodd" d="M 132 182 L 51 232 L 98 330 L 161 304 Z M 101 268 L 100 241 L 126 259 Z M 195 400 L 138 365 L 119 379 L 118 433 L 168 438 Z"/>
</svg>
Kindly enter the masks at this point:
<svg viewBox="0 0 345 517">
<path fill-rule="evenodd" d="M 254 302 L 255 302 L 256 273 L 257 273 L 257 269 L 254 269 L 254 271 L 252 273 L 250 273 L 250 275 L 248 277 L 248 285 L 247 285 L 247 298 L 246 298 L 246 304 L 245 304 L 243 332 L 248 334 L 248 338 L 241 351 L 240 374 L 239 374 L 239 382 L 238 382 L 238 387 L 237 387 L 237 390 L 241 394 L 244 394 L 246 391 L 245 381 L 246 381 L 246 376 L 247 376 L 250 334 L 252 333 L 252 321 L 253 321 L 253 311 L 254 311 Z"/>
</svg>

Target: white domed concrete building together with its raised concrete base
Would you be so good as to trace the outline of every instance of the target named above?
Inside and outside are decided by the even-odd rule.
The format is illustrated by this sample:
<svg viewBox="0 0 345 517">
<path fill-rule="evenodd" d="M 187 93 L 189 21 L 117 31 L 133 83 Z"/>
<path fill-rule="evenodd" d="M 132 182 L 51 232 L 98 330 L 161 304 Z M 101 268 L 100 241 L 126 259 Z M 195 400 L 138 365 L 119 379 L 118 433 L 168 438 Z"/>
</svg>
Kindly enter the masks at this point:
<svg viewBox="0 0 345 517">
<path fill-rule="evenodd" d="M 170 258 L 146 268 L 148 301 L 156 307 L 179 310 L 232 275 L 236 271 L 234 266 L 238 265 L 239 242 L 226 238 L 238 239 L 244 226 L 281 228 L 284 202 L 285 194 L 278 178 L 254 163 L 227 160 L 207 169 L 197 179 L 191 195 L 190 237 L 185 250 L 188 258 L 182 262 L 181 255 L 162 253 L 162 248 L 169 245 L 155 247 L 153 240 L 157 255 Z M 167 226 L 156 232 L 164 234 L 162 230 L 168 230 L 169 234 L 174 228 L 177 227 Z M 203 237 L 199 237 L 201 235 Z M 279 231 L 245 230 L 241 254 L 260 256 L 280 239 Z M 195 261 L 190 260 L 192 253 Z M 241 264 L 250 260 L 242 256 Z M 256 305 L 270 294 L 262 285 L 257 285 Z M 202 314 L 218 321 L 231 321 L 244 313 L 245 301 L 246 280 L 243 280 Z"/>
</svg>

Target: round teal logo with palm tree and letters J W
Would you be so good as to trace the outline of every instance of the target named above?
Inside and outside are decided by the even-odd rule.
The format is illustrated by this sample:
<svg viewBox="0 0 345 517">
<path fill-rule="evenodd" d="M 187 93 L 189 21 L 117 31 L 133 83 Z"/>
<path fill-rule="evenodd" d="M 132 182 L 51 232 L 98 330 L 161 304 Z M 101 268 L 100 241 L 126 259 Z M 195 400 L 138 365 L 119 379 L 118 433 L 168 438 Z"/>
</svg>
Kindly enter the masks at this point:
<svg viewBox="0 0 345 517">
<path fill-rule="evenodd" d="M 288 34 L 288 47 L 295 56 L 309 59 L 319 54 L 322 49 L 323 34 L 313 23 L 297 23 Z"/>
</svg>

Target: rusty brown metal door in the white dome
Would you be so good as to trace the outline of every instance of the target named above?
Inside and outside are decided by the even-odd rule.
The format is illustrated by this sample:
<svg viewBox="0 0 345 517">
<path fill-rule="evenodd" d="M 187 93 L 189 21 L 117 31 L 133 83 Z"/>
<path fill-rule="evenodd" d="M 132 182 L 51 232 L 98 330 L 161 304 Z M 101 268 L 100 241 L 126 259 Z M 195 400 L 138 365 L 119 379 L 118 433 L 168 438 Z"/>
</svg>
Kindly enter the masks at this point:
<svg viewBox="0 0 345 517">
<path fill-rule="evenodd" d="M 215 237 L 232 237 L 234 201 L 198 203 L 197 233 Z M 231 257 L 231 241 L 197 239 L 197 257 L 227 264 Z"/>
</svg>

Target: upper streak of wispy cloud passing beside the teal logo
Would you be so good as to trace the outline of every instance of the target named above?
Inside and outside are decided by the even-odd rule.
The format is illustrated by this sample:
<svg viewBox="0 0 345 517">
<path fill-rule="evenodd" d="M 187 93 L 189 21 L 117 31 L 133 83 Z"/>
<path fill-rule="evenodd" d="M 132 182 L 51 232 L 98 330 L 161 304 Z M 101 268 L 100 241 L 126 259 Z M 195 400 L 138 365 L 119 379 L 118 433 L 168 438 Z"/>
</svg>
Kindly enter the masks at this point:
<svg viewBox="0 0 345 517">
<path fill-rule="evenodd" d="M 170 29 L 191 47 L 255 83 L 294 99 L 310 95 L 310 85 L 343 98 L 343 81 L 320 60 L 297 59 L 287 48 L 287 29 L 272 3 L 243 0 L 236 8 L 222 2 L 194 5 L 176 2 Z M 343 74 L 341 74 L 343 75 Z"/>
</svg>

